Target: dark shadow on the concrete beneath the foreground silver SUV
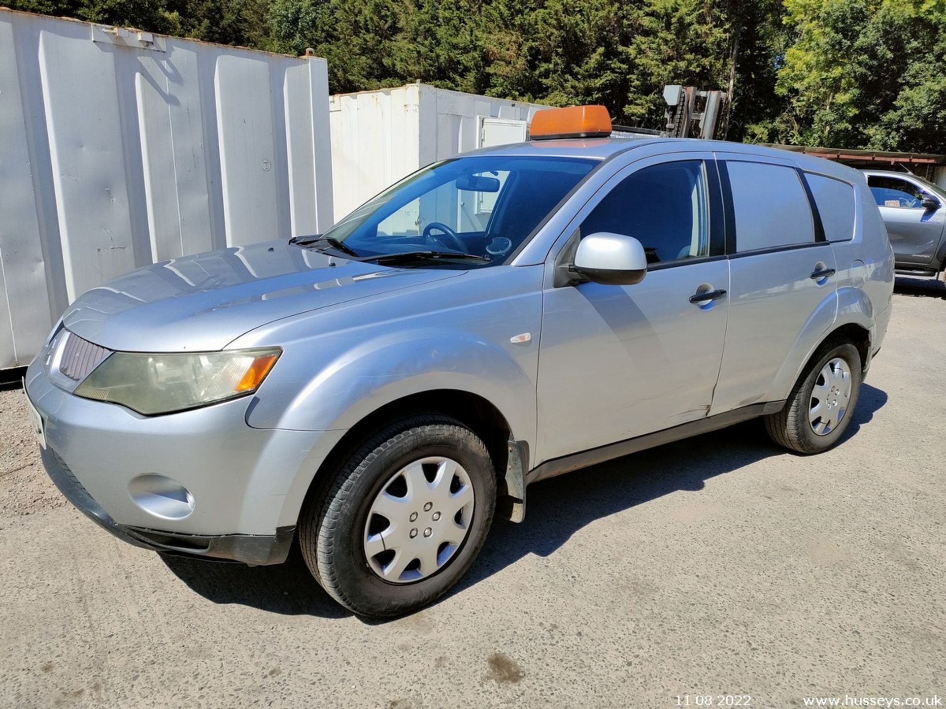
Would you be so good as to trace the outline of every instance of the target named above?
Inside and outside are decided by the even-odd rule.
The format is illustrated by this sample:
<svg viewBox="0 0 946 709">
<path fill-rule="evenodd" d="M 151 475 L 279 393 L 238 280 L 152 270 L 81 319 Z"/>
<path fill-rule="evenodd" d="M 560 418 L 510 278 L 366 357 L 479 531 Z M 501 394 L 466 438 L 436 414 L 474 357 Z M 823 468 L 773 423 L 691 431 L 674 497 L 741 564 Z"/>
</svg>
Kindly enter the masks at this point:
<svg viewBox="0 0 946 709">
<path fill-rule="evenodd" d="M 869 424 L 886 400 L 885 391 L 864 384 L 840 444 Z M 529 488 L 525 522 L 497 520 L 480 557 L 445 598 L 524 556 L 550 556 L 594 520 L 678 490 L 702 490 L 710 477 L 781 455 L 791 454 L 770 443 L 762 422 L 756 420 L 536 483 Z M 215 603 L 238 603 L 278 614 L 349 615 L 311 578 L 298 544 L 293 545 L 289 560 L 277 566 L 251 568 L 179 557 L 162 559 L 193 591 Z"/>
</svg>

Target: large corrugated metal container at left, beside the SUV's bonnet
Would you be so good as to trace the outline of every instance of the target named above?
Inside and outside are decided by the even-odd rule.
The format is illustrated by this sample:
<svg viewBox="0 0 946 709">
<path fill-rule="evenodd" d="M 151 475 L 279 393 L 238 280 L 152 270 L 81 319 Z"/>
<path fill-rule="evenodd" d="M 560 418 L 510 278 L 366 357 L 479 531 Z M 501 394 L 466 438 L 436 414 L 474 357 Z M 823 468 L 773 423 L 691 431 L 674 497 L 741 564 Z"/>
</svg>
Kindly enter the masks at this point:
<svg viewBox="0 0 946 709">
<path fill-rule="evenodd" d="M 0 9 L 0 368 L 115 275 L 331 223 L 324 60 Z"/>
</svg>

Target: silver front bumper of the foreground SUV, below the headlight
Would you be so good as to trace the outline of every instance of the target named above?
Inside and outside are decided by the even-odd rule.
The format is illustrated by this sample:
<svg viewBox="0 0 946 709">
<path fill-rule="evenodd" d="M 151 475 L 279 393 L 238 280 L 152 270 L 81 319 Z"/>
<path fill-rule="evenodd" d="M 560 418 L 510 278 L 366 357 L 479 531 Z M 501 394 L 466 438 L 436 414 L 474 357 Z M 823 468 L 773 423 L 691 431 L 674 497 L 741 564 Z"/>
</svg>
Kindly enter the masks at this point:
<svg viewBox="0 0 946 709">
<path fill-rule="evenodd" d="M 136 546 L 252 564 L 285 559 L 311 480 L 343 434 L 253 428 L 252 397 L 141 416 L 55 387 L 41 358 L 26 394 L 44 421 L 49 476 L 99 526 Z M 180 483 L 192 510 L 142 504 L 132 492 L 151 477 Z"/>
</svg>

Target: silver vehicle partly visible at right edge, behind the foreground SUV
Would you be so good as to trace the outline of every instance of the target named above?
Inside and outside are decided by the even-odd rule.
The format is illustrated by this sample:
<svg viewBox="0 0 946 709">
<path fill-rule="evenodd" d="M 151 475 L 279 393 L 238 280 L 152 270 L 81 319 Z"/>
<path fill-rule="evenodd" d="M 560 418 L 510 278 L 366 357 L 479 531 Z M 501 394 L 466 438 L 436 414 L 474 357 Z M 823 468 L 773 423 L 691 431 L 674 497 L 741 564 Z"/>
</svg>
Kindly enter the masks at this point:
<svg viewBox="0 0 946 709">
<path fill-rule="evenodd" d="M 916 175 L 865 170 L 896 267 L 936 275 L 946 268 L 946 192 Z"/>
</svg>

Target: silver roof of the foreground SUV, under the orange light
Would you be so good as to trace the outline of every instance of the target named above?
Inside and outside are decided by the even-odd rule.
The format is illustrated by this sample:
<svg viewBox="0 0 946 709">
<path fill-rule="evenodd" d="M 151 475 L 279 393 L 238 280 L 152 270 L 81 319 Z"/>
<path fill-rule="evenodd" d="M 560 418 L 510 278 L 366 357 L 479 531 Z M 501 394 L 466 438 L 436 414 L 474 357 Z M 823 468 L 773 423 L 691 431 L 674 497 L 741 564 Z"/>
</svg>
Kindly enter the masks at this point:
<svg viewBox="0 0 946 709">
<path fill-rule="evenodd" d="M 846 164 L 835 163 L 825 158 L 777 147 L 756 146 L 747 143 L 730 143 L 722 140 L 697 138 L 665 138 L 635 133 L 616 133 L 606 138 L 567 138 L 533 140 L 510 143 L 504 146 L 482 147 L 463 153 L 469 155 L 544 156 L 555 158 L 591 158 L 605 160 L 629 150 L 665 145 L 672 151 L 692 150 L 696 152 L 716 151 L 742 153 L 761 158 L 773 158 L 797 164 L 804 170 L 840 178 L 846 182 L 865 182 L 864 175 Z"/>
</svg>

